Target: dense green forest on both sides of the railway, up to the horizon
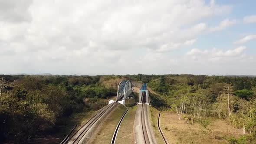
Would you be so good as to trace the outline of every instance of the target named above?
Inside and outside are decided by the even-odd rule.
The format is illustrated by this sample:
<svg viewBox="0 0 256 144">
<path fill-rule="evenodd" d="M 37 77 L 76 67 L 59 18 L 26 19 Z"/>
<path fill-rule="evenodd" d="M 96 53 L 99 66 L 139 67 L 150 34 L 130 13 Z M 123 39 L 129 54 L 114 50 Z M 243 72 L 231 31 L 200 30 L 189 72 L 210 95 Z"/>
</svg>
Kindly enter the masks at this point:
<svg viewBox="0 0 256 144">
<path fill-rule="evenodd" d="M 62 119 L 98 110 L 116 95 L 118 83 L 131 79 L 156 92 L 151 105 L 174 111 L 190 123 L 225 119 L 245 134 L 230 143 L 256 141 L 256 78 L 207 75 L 0 75 L 0 142 L 28 143 L 36 135 L 52 134 Z M 5 87 L 4 87 L 5 86 Z"/>
</svg>

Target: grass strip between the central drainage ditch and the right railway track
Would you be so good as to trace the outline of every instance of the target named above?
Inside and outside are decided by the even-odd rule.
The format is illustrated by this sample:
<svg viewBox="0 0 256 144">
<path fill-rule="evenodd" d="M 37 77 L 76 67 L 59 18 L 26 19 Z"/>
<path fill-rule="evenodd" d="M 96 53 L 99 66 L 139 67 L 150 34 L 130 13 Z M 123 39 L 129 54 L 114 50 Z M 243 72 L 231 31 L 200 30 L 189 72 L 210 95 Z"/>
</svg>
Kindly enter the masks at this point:
<svg viewBox="0 0 256 144">
<path fill-rule="evenodd" d="M 124 141 L 125 144 L 135 144 L 133 126 L 137 108 L 138 105 L 129 108 L 120 125 L 115 144 L 124 144 Z"/>
</svg>

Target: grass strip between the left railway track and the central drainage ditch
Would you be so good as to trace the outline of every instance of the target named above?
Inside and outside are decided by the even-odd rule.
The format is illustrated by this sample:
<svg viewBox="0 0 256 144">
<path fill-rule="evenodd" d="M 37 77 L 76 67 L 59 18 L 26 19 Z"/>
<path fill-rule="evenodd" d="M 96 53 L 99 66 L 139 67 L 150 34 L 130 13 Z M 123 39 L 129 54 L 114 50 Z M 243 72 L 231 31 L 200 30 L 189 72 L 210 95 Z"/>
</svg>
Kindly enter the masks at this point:
<svg viewBox="0 0 256 144">
<path fill-rule="evenodd" d="M 115 132 L 115 128 L 121 119 L 121 116 L 126 111 L 126 108 L 118 104 L 118 106 L 105 118 L 100 124 L 97 133 L 92 138 L 93 144 L 109 144 Z"/>
</svg>

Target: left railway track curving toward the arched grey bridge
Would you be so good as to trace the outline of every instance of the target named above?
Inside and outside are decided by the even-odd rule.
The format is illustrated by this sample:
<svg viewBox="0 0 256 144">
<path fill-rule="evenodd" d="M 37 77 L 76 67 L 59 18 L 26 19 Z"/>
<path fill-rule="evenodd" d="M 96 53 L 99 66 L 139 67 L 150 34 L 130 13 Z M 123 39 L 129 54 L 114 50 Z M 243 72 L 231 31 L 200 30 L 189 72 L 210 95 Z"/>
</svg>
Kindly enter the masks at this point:
<svg viewBox="0 0 256 144">
<path fill-rule="evenodd" d="M 121 98 L 120 98 L 121 99 Z M 120 100 L 119 99 L 119 100 Z M 102 117 L 102 115 L 105 114 L 109 109 L 111 109 L 115 104 L 118 103 L 118 101 L 115 101 L 114 103 L 107 105 L 105 108 L 102 108 L 101 111 L 99 111 L 96 115 L 94 115 L 89 121 L 87 121 L 81 128 L 79 128 L 78 131 L 73 134 L 72 137 L 68 137 L 66 141 L 62 141 L 61 144 L 80 144 L 83 140 L 84 135 L 89 131 L 89 129 L 92 127 L 95 122 Z"/>
</svg>

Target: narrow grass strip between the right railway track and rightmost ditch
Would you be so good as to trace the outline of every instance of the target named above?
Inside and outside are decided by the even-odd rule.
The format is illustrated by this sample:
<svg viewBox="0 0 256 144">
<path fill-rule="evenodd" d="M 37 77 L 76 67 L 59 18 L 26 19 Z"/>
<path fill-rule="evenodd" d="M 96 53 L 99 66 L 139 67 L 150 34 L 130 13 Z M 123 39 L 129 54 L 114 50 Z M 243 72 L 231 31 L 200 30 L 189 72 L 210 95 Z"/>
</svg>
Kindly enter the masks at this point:
<svg viewBox="0 0 256 144">
<path fill-rule="evenodd" d="M 158 129 L 158 114 L 160 111 L 158 111 L 156 108 L 149 106 L 149 113 L 150 113 L 150 119 L 151 119 L 151 125 L 154 131 L 154 136 L 156 138 L 156 141 L 158 144 L 165 144 L 163 137 Z"/>
</svg>

